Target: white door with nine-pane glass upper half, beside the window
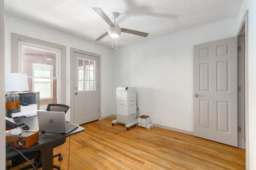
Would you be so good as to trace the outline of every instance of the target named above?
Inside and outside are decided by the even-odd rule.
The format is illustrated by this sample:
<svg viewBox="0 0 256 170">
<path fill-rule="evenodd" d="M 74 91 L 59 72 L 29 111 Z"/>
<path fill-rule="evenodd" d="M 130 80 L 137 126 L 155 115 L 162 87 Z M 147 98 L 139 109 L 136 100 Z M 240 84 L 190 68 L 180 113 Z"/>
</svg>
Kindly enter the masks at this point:
<svg viewBox="0 0 256 170">
<path fill-rule="evenodd" d="M 99 119 L 98 57 L 74 52 L 74 123 Z"/>
</svg>

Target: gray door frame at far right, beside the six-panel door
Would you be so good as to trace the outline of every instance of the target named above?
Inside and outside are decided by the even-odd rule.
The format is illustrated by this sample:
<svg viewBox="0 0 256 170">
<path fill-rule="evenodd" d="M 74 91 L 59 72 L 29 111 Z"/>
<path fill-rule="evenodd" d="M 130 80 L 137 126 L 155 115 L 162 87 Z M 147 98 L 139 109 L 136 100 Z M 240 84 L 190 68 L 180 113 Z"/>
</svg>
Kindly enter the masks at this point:
<svg viewBox="0 0 256 170">
<path fill-rule="evenodd" d="M 246 169 L 250 169 L 249 159 L 249 79 L 248 79 L 248 10 L 240 24 L 237 36 L 244 34 L 244 117 L 245 117 L 245 163 Z"/>
</svg>

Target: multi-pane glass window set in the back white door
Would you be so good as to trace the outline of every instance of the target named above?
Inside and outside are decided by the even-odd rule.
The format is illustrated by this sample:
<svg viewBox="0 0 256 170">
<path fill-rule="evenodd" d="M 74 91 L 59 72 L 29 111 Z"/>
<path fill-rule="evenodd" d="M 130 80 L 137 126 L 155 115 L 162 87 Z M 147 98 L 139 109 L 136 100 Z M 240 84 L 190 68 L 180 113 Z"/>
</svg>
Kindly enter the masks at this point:
<svg viewBox="0 0 256 170">
<path fill-rule="evenodd" d="M 95 91 L 95 61 L 78 58 L 78 91 Z"/>
</svg>

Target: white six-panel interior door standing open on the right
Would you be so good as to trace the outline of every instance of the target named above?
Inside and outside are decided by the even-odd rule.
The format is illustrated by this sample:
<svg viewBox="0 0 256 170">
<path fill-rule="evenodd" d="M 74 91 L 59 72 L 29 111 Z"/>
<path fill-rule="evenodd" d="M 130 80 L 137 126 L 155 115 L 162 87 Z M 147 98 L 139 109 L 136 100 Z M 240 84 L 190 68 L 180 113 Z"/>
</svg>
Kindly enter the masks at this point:
<svg viewBox="0 0 256 170">
<path fill-rule="evenodd" d="M 194 136 L 238 146 L 237 37 L 194 45 Z"/>
</svg>

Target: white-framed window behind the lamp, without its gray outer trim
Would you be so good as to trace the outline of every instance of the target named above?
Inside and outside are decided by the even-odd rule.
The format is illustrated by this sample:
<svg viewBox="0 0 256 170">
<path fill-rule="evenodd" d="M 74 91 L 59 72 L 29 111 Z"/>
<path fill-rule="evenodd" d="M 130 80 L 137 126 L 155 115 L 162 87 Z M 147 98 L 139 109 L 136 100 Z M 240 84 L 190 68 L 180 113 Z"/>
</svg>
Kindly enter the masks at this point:
<svg viewBox="0 0 256 170">
<path fill-rule="evenodd" d="M 40 106 L 59 103 L 60 49 L 19 41 L 20 72 L 28 75 L 30 91 L 40 92 Z"/>
</svg>

